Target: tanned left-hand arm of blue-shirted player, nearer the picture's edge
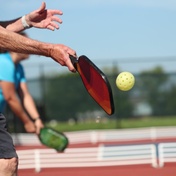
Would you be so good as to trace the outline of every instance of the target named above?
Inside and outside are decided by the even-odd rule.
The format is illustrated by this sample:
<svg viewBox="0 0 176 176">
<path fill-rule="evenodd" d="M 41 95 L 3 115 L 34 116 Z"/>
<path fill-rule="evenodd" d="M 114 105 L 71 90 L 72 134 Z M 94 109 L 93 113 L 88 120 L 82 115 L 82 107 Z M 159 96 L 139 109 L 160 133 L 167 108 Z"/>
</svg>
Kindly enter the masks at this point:
<svg viewBox="0 0 176 176">
<path fill-rule="evenodd" d="M 28 117 L 17 97 L 14 83 L 1 81 L 3 96 L 14 114 L 21 119 L 27 132 L 35 132 L 34 123 Z"/>
</svg>

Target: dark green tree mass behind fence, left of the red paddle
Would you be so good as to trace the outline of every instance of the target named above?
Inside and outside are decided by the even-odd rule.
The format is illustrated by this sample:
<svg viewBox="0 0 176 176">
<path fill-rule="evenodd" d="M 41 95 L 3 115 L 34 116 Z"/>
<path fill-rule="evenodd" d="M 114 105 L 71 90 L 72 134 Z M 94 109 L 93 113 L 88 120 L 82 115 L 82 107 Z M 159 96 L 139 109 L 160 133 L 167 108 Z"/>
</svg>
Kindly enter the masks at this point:
<svg viewBox="0 0 176 176">
<path fill-rule="evenodd" d="M 62 74 L 48 79 L 46 85 L 47 116 L 66 121 L 77 113 L 100 109 L 85 90 L 78 74 Z"/>
</svg>

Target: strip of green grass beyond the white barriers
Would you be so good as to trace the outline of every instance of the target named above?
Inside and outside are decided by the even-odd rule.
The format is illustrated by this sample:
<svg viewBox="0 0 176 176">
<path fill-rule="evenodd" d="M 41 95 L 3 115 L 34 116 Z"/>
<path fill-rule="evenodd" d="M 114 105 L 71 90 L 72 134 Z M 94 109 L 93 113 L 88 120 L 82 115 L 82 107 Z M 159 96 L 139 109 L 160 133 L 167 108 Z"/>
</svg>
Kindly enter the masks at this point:
<svg viewBox="0 0 176 176">
<path fill-rule="evenodd" d="M 68 124 L 58 122 L 57 124 L 50 125 L 59 131 L 80 131 L 80 130 L 93 130 L 93 129 L 126 129 L 126 128 L 142 128 L 142 127 L 158 127 L 158 126 L 176 126 L 176 116 L 174 117 L 143 117 L 135 119 L 116 119 L 108 120 L 106 122 L 95 121 L 87 123 Z"/>
</svg>

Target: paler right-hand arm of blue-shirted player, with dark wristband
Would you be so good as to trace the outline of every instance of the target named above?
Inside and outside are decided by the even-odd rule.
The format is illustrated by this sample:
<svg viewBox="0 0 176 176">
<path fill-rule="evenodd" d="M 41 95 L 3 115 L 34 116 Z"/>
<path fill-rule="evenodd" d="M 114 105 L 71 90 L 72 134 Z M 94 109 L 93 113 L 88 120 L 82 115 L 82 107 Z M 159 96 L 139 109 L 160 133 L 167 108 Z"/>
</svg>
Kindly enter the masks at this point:
<svg viewBox="0 0 176 176">
<path fill-rule="evenodd" d="M 27 111 L 27 113 L 30 115 L 30 117 L 35 121 L 35 126 L 36 126 L 36 133 L 39 134 L 40 129 L 44 127 L 42 120 L 40 118 L 40 114 L 35 106 L 35 102 L 31 96 L 31 94 L 28 91 L 28 87 L 26 82 L 21 82 L 20 83 L 20 88 L 19 88 L 19 96 L 21 99 L 21 102 Z"/>
</svg>

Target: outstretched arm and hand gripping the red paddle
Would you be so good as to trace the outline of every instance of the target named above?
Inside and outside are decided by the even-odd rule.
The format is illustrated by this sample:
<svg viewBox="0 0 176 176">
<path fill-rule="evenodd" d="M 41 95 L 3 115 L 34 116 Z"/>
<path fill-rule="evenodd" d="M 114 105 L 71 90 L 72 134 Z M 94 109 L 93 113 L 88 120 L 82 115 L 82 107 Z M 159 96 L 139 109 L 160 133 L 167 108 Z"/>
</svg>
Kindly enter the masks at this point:
<svg viewBox="0 0 176 176">
<path fill-rule="evenodd" d="M 18 53 L 36 54 L 51 57 L 62 66 L 67 66 L 72 72 L 75 72 L 69 55 L 74 57 L 76 52 L 62 44 L 44 43 L 30 38 L 26 38 L 17 33 L 6 30 L 0 26 L 0 48 L 6 51 Z"/>
</svg>

